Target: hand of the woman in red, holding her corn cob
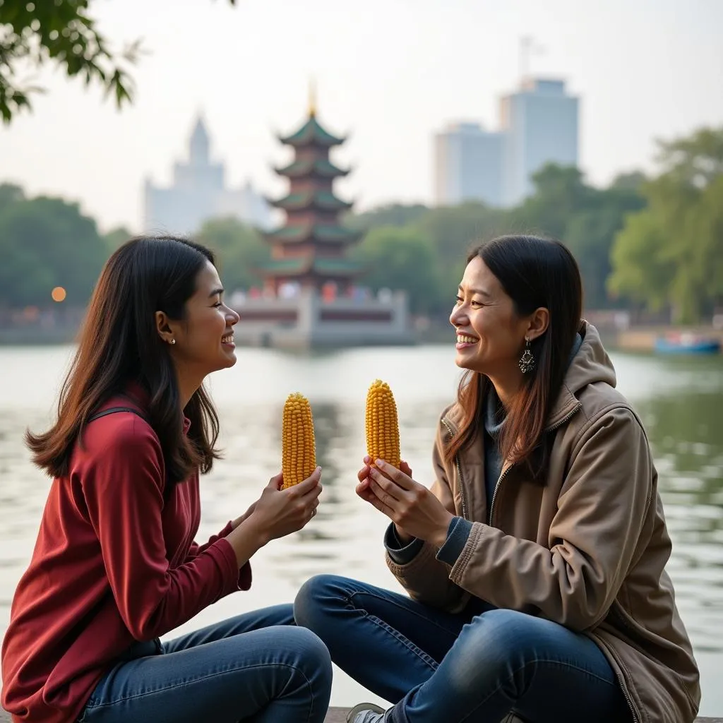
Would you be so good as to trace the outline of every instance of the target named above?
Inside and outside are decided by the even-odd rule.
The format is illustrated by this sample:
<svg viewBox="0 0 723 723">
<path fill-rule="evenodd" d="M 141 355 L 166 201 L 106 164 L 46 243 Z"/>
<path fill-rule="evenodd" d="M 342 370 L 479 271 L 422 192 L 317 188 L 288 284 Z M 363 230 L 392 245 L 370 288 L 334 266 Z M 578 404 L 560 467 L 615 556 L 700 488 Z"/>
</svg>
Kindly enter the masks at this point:
<svg viewBox="0 0 723 723">
<path fill-rule="evenodd" d="M 304 482 L 288 489 L 279 489 L 281 474 L 269 480 L 246 521 L 259 531 L 262 544 L 296 532 L 309 522 L 319 506 L 320 479 L 321 467 L 317 467 Z"/>
</svg>

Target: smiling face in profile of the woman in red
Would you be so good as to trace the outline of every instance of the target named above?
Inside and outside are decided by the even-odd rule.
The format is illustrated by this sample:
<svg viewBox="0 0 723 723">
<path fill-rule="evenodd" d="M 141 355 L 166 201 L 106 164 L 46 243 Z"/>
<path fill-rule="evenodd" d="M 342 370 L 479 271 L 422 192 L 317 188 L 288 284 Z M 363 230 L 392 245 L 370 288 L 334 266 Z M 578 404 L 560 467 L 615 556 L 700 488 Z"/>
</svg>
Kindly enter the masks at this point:
<svg viewBox="0 0 723 723">
<path fill-rule="evenodd" d="M 223 303 L 223 286 L 213 264 L 196 277 L 196 291 L 185 304 L 185 318 L 166 319 L 174 339 L 171 355 L 182 376 L 203 377 L 236 364 L 234 325 L 239 315 Z"/>
</svg>

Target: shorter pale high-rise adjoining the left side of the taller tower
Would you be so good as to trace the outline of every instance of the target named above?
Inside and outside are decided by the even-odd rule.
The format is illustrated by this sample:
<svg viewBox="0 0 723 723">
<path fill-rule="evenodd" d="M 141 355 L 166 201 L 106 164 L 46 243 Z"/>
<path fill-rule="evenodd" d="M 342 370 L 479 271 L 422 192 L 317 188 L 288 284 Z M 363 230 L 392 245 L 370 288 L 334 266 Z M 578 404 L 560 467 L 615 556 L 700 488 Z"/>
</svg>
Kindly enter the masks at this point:
<svg viewBox="0 0 723 723">
<path fill-rule="evenodd" d="M 435 137 L 435 200 L 453 206 L 479 200 L 502 204 L 501 133 L 489 133 L 479 123 L 450 124 Z"/>
</svg>

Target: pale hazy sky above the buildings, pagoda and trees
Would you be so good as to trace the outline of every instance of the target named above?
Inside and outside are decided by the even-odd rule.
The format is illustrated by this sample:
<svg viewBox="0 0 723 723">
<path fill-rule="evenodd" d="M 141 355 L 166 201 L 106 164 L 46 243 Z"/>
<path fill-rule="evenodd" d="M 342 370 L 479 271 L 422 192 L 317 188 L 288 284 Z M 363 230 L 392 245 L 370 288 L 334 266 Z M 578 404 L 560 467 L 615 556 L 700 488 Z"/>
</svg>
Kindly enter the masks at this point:
<svg viewBox="0 0 723 723">
<path fill-rule="evenodd" d="M 580 158 L 595 183 L 651 168 L 654 139 L 723 125 L 723 0 L 94 0 L 100 30 L 142 38 L 134 106 L 59 72 L 32 115 L 0 126 L 0 181 L 78 200 L 103 230 L 140 231 L 142 182 L 166 184 L 202 110 L 233 185 L 269 194 L 317 79 L 319 118 L 350 132 L 334 156 L 357 208 L 432 199 L 432 134 L 448 121 L 497 127 L 531 72 L 581 96 Z"/>
</svg>

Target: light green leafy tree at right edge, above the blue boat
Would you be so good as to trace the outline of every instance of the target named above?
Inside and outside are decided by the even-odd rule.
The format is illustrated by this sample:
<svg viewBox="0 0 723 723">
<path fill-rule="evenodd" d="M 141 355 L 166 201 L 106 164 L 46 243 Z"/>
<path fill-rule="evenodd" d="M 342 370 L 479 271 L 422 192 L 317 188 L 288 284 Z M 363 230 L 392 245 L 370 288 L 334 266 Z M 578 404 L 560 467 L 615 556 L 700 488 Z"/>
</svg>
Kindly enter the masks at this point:
<svg viewBox="0 0 723 723">
<path fill-rule="evenodd" d="M 723 298 L 723 127 L 659 149 L 662 174 L 615 239 L 609 288 L 696 322 Z"/>
</svg>

